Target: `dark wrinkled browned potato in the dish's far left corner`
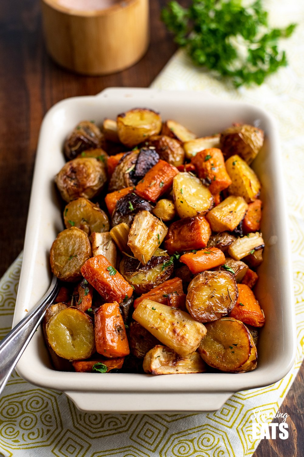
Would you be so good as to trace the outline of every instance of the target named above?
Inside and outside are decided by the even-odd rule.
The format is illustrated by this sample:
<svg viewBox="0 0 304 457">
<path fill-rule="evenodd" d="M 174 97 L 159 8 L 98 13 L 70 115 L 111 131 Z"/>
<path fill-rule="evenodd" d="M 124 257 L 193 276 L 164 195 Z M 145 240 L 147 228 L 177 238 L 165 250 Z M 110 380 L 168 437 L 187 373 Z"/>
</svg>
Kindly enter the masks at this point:
<svg viewBox="0 0 304 457">
<path fill-rule="evenodd" d="M 102 133 L 94 122 L 82 121 L 74 128 L 64 143 L 64 154 L 68 160 L 88 149 L 99 148 Z"/>
</svg>

